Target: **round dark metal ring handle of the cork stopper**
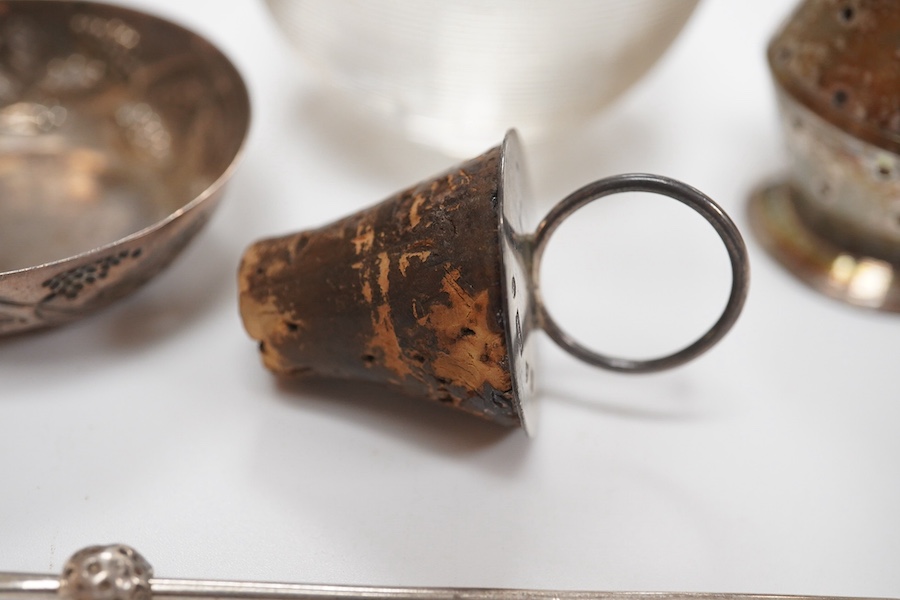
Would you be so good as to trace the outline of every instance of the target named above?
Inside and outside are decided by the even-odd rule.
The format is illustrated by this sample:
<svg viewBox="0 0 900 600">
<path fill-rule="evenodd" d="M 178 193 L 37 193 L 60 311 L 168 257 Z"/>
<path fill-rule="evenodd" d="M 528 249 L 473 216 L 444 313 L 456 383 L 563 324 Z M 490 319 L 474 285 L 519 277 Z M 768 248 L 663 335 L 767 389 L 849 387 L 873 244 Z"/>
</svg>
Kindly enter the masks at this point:
<svg viewBox="0 0 900 600">
<path fill-rule="evenodd" d="M 731 294 L 718 321 L 698 340 L 678 352 L 649 360 L 616 358 L 594 352 L 578 343 L 550 316 L 544 306 L 540 287 L 541 257 L 550 236 L 563 220 L 579 208 L 604 196 L 624 192 L 649 192 L 668 196 L 700 213 L 719 234 L 731 260 Z M 551 210 L 534 233 L 532 282 L 538 324 L 553 341 L 573 356 L 592 365 L 628 373 L 648 373 L 677 367 L 699 356 L 731 329 L 744 306 L 750 281 L 750 264 L 744 239 L 731 218 L 718 204 L 699 190 L 668 177 L 631 173 L 590 183 L 564 198 Z"/>
</svg>

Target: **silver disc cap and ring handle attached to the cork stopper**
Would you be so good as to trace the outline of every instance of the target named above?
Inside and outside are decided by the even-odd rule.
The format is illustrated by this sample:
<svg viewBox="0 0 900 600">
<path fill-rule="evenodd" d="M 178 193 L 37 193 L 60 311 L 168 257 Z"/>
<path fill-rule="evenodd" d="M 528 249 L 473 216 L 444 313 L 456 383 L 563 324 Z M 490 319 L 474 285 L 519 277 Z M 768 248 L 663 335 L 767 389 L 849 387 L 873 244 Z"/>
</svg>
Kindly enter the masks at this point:
<svg viewBox="0 0 900 600">
<path fill-rule="evenodd" d="M 750 284 L 747 248 L 731 218 L 711 198 L 699 190 L 661 175 L 628 173 L 600 179 L 572 192 L 559 201 L 533 233 L 524 228 L 523 206 L 529 196 L 528 177 L 518 136 L 510 131 L 503 141 L 500 201 L 502 218 L 500 244 L 503 252 L 507 343 L 513 391 L 523 426 L 533 431 L 532 388 L 534 386 L 533 332 L 543 329 L 566 352 L 604 369 L 626 373 L 649 373 L 682 365 L 709 350 L 737 321 Z M 719 319 L 688 346 L 659 358 L 634 360 L 596 352 L 560 327 L 544 305 L 540 285 L 541 258 L 553 232 L 578 209 L 605 196 L 645 192 L 667 196 L 699 213 L 721 238 L 731 261 L 731 292 Z"/>
</svg>

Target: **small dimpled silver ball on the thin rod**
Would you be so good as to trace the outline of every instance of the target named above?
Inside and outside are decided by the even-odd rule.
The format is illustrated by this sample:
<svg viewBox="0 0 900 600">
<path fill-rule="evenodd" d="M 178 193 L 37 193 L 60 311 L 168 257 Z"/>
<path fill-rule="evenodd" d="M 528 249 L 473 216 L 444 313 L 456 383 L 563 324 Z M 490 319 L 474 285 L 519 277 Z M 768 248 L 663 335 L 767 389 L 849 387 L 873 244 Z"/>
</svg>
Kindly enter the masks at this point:
<svg viewBox="0 0 900 600">
<path fill-rule="evenodd" d="M 79 550 L 63 567 L 63 600 L 150 600 L 153 567 L 122 544 Z"/>
</svg>

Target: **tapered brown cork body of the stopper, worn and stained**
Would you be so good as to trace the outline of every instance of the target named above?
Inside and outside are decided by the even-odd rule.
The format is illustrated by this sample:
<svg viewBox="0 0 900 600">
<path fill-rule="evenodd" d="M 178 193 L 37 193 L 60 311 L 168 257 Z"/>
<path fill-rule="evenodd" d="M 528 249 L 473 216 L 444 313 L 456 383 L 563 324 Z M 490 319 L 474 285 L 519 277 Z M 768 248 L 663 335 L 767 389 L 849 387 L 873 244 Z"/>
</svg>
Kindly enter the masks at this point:
<svg viewBox="0 0 900 600">
<path fill-rule="evenodd" d="M 312 231 L 259 241 L 240 309 L 285 376 L 387 383 L 504 425 L 500 149 Z"/>
</svg>

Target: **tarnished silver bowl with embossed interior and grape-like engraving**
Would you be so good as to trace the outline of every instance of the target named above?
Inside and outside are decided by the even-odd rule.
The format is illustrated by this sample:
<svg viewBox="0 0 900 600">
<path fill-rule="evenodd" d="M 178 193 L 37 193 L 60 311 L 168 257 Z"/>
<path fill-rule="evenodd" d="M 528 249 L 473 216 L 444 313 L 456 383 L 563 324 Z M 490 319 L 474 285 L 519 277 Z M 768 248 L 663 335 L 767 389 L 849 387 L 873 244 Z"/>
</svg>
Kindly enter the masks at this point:
<svg viewBox="0 0 900 600">
<path fill-rule="evenodd" d="M 164 268 L 209 218 L 247 90 L 177 25 L 0 2 L 0 335 L 76 319 Z"/>
</svg>

